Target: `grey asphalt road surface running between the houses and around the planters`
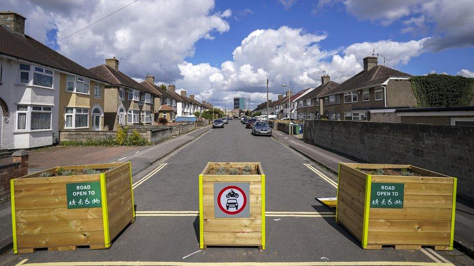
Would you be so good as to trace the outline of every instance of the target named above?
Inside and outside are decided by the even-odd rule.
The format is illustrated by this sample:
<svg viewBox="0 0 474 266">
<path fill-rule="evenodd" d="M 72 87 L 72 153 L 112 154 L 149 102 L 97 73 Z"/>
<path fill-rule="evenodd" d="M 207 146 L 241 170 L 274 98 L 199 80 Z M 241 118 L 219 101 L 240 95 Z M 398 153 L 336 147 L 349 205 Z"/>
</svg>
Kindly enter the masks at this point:
<svg viewBox="0 0 474 266">
<path fill-rule="evenodd" d="M 0 257 L 5 265 L 474 265 L 457 250 L 362 250 L 316 197 L 334 197 L 324 171 L 279 141 L 251 135 L 237 119 L 209 130 L 134 176 L 137 217 L 108 250 L 39 250 Z M 266 174 L 266 250 L 199 250 L 198 176 L 207 162 L 261 162 Z M 322 175 L 308 168 L 312 165 Z M 154 174 L 150 174 L 154 172 Z M 148 212 L 145 212 L 148 211 Z M 312 212 L 312 215 L 298 214 Z M 56 263 L 56 264 L 54 264 Z"/>
</svg>

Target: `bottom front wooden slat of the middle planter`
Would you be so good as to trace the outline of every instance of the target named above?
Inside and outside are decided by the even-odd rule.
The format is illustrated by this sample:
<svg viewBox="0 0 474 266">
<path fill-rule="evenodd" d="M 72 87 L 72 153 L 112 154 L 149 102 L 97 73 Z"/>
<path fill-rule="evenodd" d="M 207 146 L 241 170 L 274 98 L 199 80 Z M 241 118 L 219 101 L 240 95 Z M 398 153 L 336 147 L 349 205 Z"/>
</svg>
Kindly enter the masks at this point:
<svg viewBox="0 0 474 266">
<path fill-rule="evenodd" d="M 204 245 L 260 246 L 262 245 L 262 233 L 204 232 Z"/>
</svg>

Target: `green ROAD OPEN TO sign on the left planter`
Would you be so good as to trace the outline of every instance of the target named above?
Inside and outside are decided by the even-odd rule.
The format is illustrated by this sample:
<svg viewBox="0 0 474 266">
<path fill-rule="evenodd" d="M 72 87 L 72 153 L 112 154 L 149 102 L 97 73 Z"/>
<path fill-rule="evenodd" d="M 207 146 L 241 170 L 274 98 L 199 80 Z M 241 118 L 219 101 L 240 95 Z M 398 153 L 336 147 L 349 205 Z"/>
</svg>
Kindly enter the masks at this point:
<svg viewBox="0 0 474 266">
<path fill-rule="evenodd" d="M 66 184 L 68 209 L 102 207 L 101 182 Z"/>
</svg>

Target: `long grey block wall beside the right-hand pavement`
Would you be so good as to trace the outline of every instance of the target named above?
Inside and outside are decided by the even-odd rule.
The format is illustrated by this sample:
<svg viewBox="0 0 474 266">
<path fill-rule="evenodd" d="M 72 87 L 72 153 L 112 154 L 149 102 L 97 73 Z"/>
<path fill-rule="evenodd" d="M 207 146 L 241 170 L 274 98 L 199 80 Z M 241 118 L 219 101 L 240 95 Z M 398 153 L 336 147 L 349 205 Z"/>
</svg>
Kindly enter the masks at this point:
<svg viewBox="0 0 474 266">
<path fill-rule="evenodd" d="M 306 121 L 303 130 L 305 141 L 362 161 L 411 164 L 457 177 L 457 195 L 472 202 L 473 136 L 474 126 L 360 121 Z"/>
</svg>

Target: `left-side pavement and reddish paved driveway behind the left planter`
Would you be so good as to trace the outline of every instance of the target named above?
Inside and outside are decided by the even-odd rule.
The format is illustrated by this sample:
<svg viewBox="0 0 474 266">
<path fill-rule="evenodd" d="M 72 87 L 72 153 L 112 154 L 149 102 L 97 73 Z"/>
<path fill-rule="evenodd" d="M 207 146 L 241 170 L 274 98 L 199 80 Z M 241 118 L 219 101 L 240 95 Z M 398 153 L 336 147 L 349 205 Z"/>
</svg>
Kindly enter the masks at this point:
<svg viewBox="0 0 474 266">
<path fill-rule="evenodd" d="M 132 162 L 132 174 L 143 171 L 156 160 L 169 155 L 189 141 L 207 132 L 210 126 L 193 130 L 176 138 L 145 147 L 50 147 L 30 153 L 29 172 L 38 172 L 60 165 Z M 42 158 L 42 159 L 41 159 Z M 13 247 L 11 202 L 0 203 L 0 254 Z M 1 265 L 1 263 L 0 263 Z"/>
</svg>

